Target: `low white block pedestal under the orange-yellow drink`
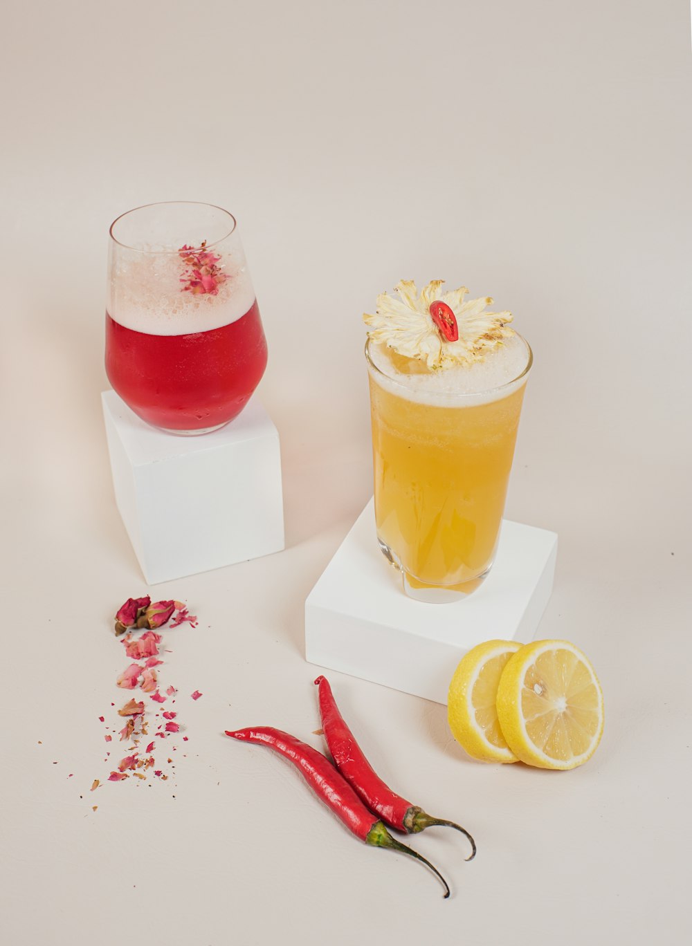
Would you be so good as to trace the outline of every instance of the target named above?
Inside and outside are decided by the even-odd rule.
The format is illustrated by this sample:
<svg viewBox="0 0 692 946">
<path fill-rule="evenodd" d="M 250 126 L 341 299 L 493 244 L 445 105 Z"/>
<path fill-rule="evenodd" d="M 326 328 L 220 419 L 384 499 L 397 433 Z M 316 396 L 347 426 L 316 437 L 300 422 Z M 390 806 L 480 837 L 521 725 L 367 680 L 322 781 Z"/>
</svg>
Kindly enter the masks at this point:
<svg viewBox="0 0 692 946">
<path fill-rule="evenodd" d="M 495 563 L 462 601 L 421 604 L 378 546 L 371 500 L 305 604 L 309 663 L 447 702 L 452 673 L 489 639 L 533 639 L 553 588 L 558 536 L 503 522 Z"/>
</svg>

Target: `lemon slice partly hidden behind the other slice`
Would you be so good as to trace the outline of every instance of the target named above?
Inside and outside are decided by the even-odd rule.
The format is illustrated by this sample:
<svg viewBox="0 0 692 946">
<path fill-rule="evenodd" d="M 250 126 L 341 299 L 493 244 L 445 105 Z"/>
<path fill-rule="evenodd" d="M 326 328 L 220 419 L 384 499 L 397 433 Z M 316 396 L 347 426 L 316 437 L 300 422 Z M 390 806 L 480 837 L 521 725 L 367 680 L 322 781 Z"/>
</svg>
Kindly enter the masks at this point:
<svg viewBox="0 0 692 946">
<path fill-rule="evenodd" d="M 473 759 L 517 761 L 498 722 L 495 698 L 507 661 L 521 646 L 515 640 L 487 640 L 472 647 L 454 671 L 447 718 L 452 736 Z"/>
</svg>

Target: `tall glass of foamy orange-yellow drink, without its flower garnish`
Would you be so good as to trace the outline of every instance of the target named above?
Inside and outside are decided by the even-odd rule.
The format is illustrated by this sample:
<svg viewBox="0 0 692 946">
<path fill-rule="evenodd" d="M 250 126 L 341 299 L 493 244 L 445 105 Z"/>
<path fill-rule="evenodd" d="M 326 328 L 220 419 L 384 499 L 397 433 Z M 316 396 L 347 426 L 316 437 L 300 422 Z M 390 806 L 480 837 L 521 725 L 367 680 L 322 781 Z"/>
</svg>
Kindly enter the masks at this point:
<svg viewBox="0 0 692 946">
<path fill-rule="evenodd" d="M 514 335 L 438 371 L 372 340 L 366 355 L 382 552 L 414 597 L 469 593 L 495 553 L 531 350 Z"/>
</svg>

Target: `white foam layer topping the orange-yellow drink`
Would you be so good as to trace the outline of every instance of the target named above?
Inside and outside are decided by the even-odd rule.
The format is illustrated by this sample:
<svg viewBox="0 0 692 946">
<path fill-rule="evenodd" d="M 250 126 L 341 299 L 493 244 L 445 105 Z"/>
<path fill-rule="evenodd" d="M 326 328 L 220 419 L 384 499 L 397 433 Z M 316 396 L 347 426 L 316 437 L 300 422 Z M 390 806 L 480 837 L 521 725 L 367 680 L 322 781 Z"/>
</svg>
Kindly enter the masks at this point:
<svg viewBox="0 0 692 946">
<path fill-rule="evenodd" d="M 384 345 L 370 342 L 368 352 L 379 369 L 370 369 L 371 374 L 382 388 L 418 404 L 438 407 L 472 407 L 512 394 L 526 381 L 523 371 L 529 359 L 528 345 L 519 335 L 506 339 L 482 361 L 438 371 L 426 371 L 420 365 L 423 370 L 414 374 L 399 371 Z"/>
</svg>

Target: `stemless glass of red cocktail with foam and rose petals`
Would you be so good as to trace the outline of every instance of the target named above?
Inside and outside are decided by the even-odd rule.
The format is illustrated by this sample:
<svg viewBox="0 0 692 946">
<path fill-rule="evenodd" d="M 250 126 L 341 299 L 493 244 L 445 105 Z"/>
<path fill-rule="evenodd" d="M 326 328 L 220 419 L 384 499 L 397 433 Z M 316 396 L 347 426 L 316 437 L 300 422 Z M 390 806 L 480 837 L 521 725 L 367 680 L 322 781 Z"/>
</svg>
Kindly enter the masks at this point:
<svg viewBox="0 0 692 946">
<path fill-rule="evenodd" d="M 206 203 L 137 207 L 110 230 L 106 373 L 152 427 L 207 433 L 264 374 L 267 343 L 234 217 Z"/>
</svg>

